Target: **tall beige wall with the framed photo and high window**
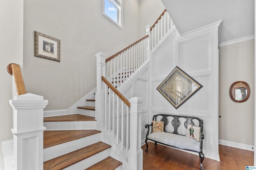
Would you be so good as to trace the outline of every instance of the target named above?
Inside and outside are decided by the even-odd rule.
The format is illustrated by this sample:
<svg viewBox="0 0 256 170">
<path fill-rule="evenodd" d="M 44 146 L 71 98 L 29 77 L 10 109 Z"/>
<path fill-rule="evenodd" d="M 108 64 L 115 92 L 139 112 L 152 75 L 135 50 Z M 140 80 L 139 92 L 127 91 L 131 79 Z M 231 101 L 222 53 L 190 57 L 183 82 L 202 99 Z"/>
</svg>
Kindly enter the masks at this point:
<svg viewBox="0 0 256 170">
<path fill-rule="evenodd" d="M 102 15 L 102 0 L 24 0 L 27 92 L 67 109 L 96 87 L 98 52 L 113 55 L 138 37 L 138 0 L 123 1 L 123 29 Z M 60 39 L 60 63 L 34 57 L 34 31 Z"/>
</svg>

